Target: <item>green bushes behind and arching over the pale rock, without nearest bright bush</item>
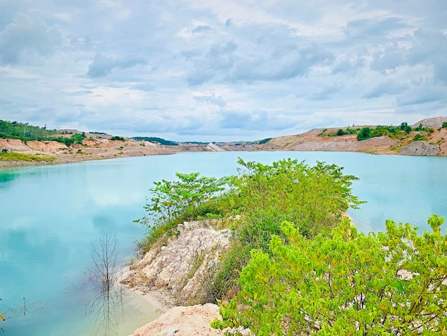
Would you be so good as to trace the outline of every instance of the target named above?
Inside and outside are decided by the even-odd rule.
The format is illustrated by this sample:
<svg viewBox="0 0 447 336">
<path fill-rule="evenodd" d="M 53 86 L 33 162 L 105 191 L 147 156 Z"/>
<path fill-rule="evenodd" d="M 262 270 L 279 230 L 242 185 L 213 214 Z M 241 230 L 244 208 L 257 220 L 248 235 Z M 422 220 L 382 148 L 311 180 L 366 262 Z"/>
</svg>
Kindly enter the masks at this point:
<svg viewBox="0 0 447 336">
<path fill-rule="evenodd" d="M 235 280 L 250 250 L 268 252 L 273 234 L 286 239 L 281 231 L 284 220 L 296 223 L 306 237 L 314 237 L 336 226 L 348 208 L 362 203 L 351 194 L 356 177 L 343 175 L 343 168 L 335 164 L 317 162 L 309 167 L 292 159 L 261 164 L 241 158 L 238 164 L 238 175 L 228 178 L 176 173 L 176 181 L 155 182 L 151 202 L 145 206 L 147 216 L 137 221 L 149 230 L 138 242 L 140 251 L 146 251 L 175 235 L 177 224 L 184 220 L 240 215 L 232 227 L 230 251 L 206 281 L 204 302 L 237 292 Z"/>
</svg>

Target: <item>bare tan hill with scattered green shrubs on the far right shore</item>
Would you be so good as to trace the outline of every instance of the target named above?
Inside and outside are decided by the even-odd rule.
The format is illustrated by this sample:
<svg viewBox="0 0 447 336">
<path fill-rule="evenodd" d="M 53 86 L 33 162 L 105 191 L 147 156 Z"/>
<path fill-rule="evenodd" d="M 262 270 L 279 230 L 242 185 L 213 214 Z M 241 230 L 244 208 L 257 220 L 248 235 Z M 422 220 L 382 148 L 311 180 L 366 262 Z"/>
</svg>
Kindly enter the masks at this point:
<svg viewBox="0 0 447 336">
<path fill-rule="evenodd" d="M 266 151 L 365 152 L 444 157 L 447 156 L 446 139 L 447 117 L 434 117 L 416 122 L 413 127 L 403 122 L 398 127 L 369 125 L 312 129 L 303 134 L 273 138 L 259 147 Z"/>
</svg>

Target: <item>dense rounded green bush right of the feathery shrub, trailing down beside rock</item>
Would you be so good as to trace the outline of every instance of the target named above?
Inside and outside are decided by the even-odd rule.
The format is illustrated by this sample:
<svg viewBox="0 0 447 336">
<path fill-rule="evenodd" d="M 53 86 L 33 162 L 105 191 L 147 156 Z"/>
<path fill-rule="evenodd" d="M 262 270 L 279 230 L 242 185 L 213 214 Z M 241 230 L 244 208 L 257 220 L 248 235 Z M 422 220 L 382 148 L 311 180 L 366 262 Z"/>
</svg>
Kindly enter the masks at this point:
<svg viewBox="0 0 447 336">
<path fill-rule="evenodd" d="M 335 164 L 317 162 L 309 167 L 297 160 L 283 159 L 264 165 L 241 158 L 238 164 L 238 176 L 228 182 L 231 189 L 226 194 L 226 204 L 233 213 L 242 214 L 232 247 L 238 249 L 239 262 L 233 260 L 231 252 L 221 258 L 216 284 L 211 286 L 214 293 L 236 291 L 235 280 L 250 257 L 250 249 L 268 252 L 272 234 L 286 238 L 281 231 L 284 220 L 296 223 L 303 234 L 313 237 L 334 227 L 348 208 L 361 204 L 351 194 L 356 177 L 343 175 L 343 168 Z M 219 287 L 221 290 L 216 290 Z"/>
</svg>

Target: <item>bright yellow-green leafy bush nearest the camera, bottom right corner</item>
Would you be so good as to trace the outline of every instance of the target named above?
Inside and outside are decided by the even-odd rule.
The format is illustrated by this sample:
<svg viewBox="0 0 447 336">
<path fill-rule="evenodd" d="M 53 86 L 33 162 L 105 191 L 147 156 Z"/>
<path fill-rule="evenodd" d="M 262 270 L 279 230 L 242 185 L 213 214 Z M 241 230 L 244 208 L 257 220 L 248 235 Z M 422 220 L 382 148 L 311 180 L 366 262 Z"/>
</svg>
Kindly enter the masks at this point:
<svg viewBox="0 0 447 336">
<path fill-rule="evenodd" d="M 241 291 L 222 305 L 213 327 L 255 335 L 444 335 L 447 236 L 386 221 L 386 232 L 358 233 L 347 220 L 331 234 L 304 237 L 283 222 L 270 254 L 253 249 Z"/>
</svg>

